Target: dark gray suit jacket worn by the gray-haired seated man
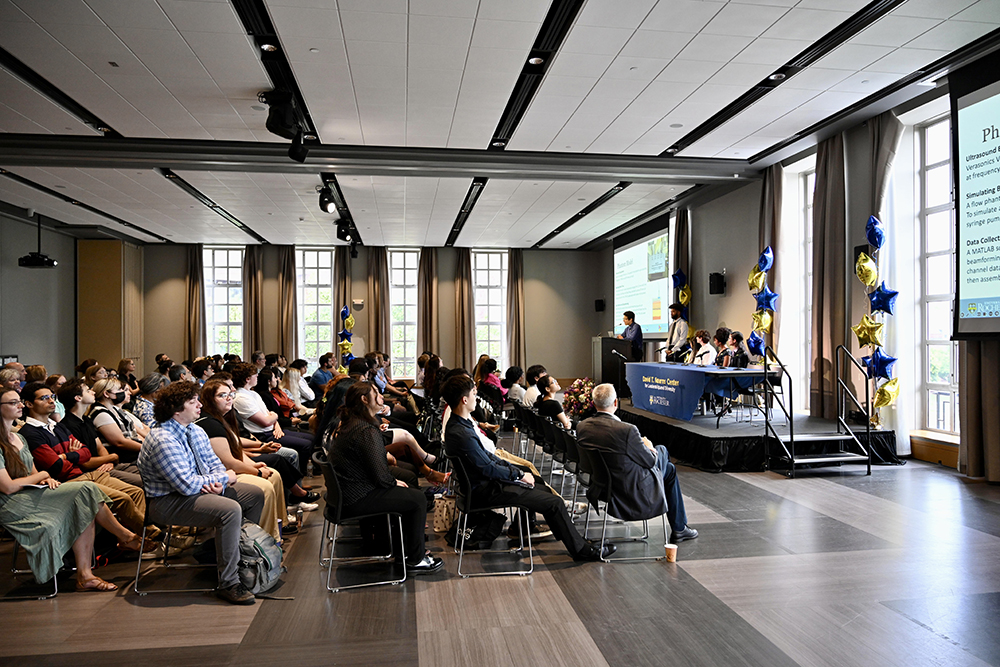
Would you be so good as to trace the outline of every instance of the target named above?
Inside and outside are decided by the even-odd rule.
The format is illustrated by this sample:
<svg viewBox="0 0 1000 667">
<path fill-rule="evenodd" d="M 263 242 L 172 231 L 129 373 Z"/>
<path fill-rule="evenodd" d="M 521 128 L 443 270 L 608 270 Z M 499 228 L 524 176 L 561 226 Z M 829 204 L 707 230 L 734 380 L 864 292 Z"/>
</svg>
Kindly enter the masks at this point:
<svg viewBox="0 0 1000 667">
<path fill-rule="evenodd" d="M 663 478 L 655 469 L 656 454 L 642 444 L 639 429 L 606 412 L 584 419 L 576 427 L 576 435 L 584 447 L 597 449 L 607 461 L 611 473 L 612 493 L 608 511 L 625 521 L 652 519 L 667 511 L 663 493 Z M 591 487 L 587 491 L 600 493 Z M 596 495 L 591 500 L 595 500 Z"/>
</svg>

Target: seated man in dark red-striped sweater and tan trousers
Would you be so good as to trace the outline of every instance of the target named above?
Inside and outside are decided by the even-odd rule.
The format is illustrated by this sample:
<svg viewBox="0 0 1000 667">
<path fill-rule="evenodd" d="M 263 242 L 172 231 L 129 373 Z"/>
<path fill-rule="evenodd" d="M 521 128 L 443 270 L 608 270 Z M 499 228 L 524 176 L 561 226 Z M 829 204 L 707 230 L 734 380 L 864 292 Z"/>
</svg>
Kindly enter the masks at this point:
<svg viewBox="0 0 1000 667">
<path fill-rule="evenodd" d="M 55 410 L 55 396 L 44 383 L 25 385 L 21 399 L 28 409 L 28 418 L 19 433 L 28 442 L 39 470 L 60 482 L 94 482 L 111 498 L 118 520 L 132 532 L 141 531 L 146 511 L 142 489 L 115 479 L 106 469 L 84 472 L 83 465 L 90 460 L 90 450 L 74 438 L 66 426 L 50 419 Z"/>
</svg>

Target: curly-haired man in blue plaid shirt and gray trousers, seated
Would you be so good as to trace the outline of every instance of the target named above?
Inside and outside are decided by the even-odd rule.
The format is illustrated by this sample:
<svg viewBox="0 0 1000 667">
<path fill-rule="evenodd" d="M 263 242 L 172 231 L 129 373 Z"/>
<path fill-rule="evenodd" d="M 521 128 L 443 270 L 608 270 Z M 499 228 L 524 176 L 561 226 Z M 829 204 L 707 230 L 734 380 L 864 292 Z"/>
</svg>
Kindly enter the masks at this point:
<svg viewBox="0 0 1000 667">
<path fill-rule="evenodd" d="M 201 415 L 196 382 L 174 382 L 160 391 L 154 406 L 159 426 L 139 452 L 139 472 L 149 517 L 161 524 L 215 528 L 216 563 L 223 600 L 253 604 L 239 580 L 240 525 L 258 523 L 264 492 L 236 482 L 212 451 L 208 435 L 194 421 Z"/>
</svg>

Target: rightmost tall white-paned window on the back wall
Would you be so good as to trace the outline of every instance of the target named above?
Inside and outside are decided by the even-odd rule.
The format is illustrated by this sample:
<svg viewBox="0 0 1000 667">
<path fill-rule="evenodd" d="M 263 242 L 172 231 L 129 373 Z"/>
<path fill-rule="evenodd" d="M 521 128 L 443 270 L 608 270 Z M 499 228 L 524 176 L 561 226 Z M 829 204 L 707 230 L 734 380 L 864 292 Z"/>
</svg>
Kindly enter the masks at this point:
<svg viewBox="0 0 1000 667">
<path fill-rule="evenodd" d="M 488 354 L 497 366 L 507 360 L 507 251 L 472 251 L 476 303 L 476 355 Z"/>
</svg>

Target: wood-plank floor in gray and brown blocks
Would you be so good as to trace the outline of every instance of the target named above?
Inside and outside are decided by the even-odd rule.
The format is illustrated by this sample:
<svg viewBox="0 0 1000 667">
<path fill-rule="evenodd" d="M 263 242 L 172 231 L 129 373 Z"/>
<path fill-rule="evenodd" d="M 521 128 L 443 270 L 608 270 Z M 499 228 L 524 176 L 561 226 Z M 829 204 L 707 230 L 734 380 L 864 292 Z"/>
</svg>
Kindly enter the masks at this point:
<svg viewBox="0 0 1000 667">
<path fill-rule="evenodd" d="M 116 594 L 3 603 L 0 664 L 1000 666 L 1000 488 L 919 462 L 680 479 L 701 536 L 676 564 L 577 564 L 548 540 L 530 577 L 460 579 L 432 534 L 442 573 L 331 594 L 316 512 L 286 556 L 294 601 L 140 598 L 116 564 Z M 651 530 L 618 555 L 660 553 Z"/>
</svg>

